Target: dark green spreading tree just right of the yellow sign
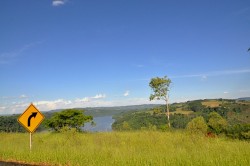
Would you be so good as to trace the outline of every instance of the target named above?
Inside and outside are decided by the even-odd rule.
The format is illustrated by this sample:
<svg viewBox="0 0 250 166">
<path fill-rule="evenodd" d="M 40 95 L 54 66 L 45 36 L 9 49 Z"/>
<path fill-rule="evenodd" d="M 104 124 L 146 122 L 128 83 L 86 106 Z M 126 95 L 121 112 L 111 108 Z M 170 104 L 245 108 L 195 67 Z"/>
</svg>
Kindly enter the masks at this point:
<svg viewBox="0 0 250 166">
<path fill-rule="evenodd" d="M 55 113 L 46 121 L 46 126 L 54 131 L 60 131 L 63 127 L 75 128 L 77 131 L 80 131 L 85 122 L 92 120 L 93 117 L 84 115 L 82 110 L 67 109 Z"/>
</svg>

